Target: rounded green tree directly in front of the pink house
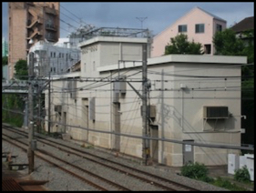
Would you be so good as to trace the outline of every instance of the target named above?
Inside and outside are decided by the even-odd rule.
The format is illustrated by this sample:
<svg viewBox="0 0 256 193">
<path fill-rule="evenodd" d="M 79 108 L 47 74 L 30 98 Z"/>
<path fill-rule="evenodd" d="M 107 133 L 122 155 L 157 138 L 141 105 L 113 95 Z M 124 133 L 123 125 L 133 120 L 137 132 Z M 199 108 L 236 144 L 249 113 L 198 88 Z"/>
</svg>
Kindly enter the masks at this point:
<svg viewBox="0 0 256 193">
<path fill-rule="evenodd" d="M 169 54 L 201 55 L 201 44 L 189 42 L 187 35 L 180 34 L 171 37 L 170 43 L 165 47 L 165 55 Z"/>
</svg>

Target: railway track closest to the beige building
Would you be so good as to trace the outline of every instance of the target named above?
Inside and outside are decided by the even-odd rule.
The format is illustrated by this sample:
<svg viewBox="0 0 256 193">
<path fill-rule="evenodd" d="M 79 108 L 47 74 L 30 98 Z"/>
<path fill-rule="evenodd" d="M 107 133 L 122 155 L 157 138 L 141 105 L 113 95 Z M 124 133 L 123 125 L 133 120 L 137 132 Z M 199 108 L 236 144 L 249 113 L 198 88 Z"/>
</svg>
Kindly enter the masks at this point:
<svg viewBox="0 0 256 193">
<path fill-rule="evenodd" d="M 24 137 L 27 136 L 27 133 L 21 130 L 17 130 L 15 128 L 11 127 L 5 127 L 5 129 L 8 129 L 9 131 L 18 133 L 19 135 L 22 135 Z M 98 157 L 94 154 L 91 154 L 87 151 L 83 151 L 81 149 L 78 149 L 76 147 L 69 147 L 67 145 L 64 145 L 62 143 L 49 140 L 46 137 L 36 137 L 36 140 L 44 143 L 46 146 L 56 147 L 58 150 L 64 151 L 69 156 L 77 156 L 82 157 L 86 159 L 87 161 L 93 162 L 94 164 L 97 164 L 100 167 L 109 168 L 113 171 L 116 171 L 118 173 L 122 173 L 128 177 L 131 178 L 137 178 L 139 181 L 144 183 L 150 183 L 152 186 L 158 187 L 159 190 L 169 190 L 169 191 L 199 191 L 199 189 L 196 188 L 190 188 L 188 186 L 185 186 L 183 184 L 179 184 L 173 180 L 167 179 L 167 178 L 161 178 L 157 175 L 148 173 L 146 171 L 140 170 L 138 168 L 131 168 L 128 167 L 122 163 L 118 163 L 113 160 L 109 160 L 104 157 Z M 54 157 L 53 154 L 50 154 L 48 152 L 44 152 L 40 150 L 41 153 L 47 153 L 50 155 L 50 157 Z M 60 160 L 59 160 L 60 161 Z M 63 161 L 63 160 L 62 160 Z"/>
</svg>

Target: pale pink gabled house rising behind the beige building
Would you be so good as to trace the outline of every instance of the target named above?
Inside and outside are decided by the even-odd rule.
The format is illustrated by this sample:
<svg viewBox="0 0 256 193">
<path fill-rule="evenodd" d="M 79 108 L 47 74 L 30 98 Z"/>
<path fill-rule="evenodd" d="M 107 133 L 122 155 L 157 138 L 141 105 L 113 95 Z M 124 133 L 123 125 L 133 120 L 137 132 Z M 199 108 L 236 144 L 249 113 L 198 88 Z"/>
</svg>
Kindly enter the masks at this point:
<svg viewBox="0 0 256 193">
<path fill-rule="evenodd" d="M 170 25 L 159 35 L 154 36 L 151 49 L 151 57 L 163 56 L 165 46 L 170 42 L 171 37 L 180 33 L 186 34 L 189 41 L 200 42 L 205 54 L 213 55 L 214 47 L 212 37 L 217 31 L 226 28 L 227 22 L 219 16 L 195 7 L 188 14 L 180 17 L 173 25 Z"/>
</svg>

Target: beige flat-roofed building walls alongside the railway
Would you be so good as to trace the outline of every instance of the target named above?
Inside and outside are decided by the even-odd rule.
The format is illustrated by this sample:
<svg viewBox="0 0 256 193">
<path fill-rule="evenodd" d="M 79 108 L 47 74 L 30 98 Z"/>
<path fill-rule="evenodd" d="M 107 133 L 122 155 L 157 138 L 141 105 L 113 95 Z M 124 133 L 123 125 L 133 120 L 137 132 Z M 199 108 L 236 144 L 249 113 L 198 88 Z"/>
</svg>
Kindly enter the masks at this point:
<svg viewBox="0 0 256 193">
<path fill-rule="evenodd" d="M 87 54 L 82 54 L 81 64 L 87 61 L 87 65 L 91 66 L 90 64 L 94 61 L 108 56 L 104 41 L 108 42 L 110 38 L 105 37 L 104 41 L 100 38 L 94 38 L 81 46 L 82 53 L 85 53 L 85 50 L 88 50 L 87 48 L 92 44 L 97 45 L 97 50 L 91 49 Z M 114 47 L 118 42 L 115 40 L 115 38 L 111 39 Z M 132 43 L 133 39 L 129 41 Z M 140 43 L 145 43 L 143 40 L 140 41 Z M 134 43 L 134 46 L 138 46 L 138 43 Z M 108 52 L 110 58 L 108 60 L 105 58 L 106 60 L 103 61 L 111 60 L 112 49 L 108 49 Z M 120 56 L 120 53 L 122 52 L 117 55 Z M 119 107 L 117 108 L 117 103 L 116 105 L 113 103 L 114 83 L 97 82 L 98 79 L 93 82 L 88 81 L 93 77 L 117 78 L 118 64 L 117 61 L 113 63 L 110 66 L 100 63 L 96 68 L 92 68 L 93 70 L 87 68 L 86 72 L 82 70 L 81 73 L 69 74 L 71 79 L 78 78 L 76 81 L 77 97 L 70 94 L 70 89 L 64 89 L 68 88 L 70 79 L 53 82 L 52 103 L 63 107 L 60 119 L 52 107 L 52 114 L 56 113 L 53 120 L 65 122 L 68 126 L 64 128 L 54 125 L 52 131 L 67 132 L 74 139 L 94 146 L 119 148 L 122 153 L 141 157 L 142 139 L 135 138 L 142 136 L 141 99 L 126 84 L 126 94 L 119 94 Z M 151 125 L 158 127 L 158 137 L 179 141 L 193 139 L 195 143 L 201 144 L 240 146 L 241 79 L 239 76 L 241 67 L 237 65 L 245 63 L 246 57 L 244 56 L 169 55 L 148 58 L 148 79 L 151 80 L 150 105 L 156 106 L 157 112 Z M 133 80 L 141 78 L 141 73 L 138 73 L 141 71 L 141 63 L 129 62 L 120 67 L 121 76 L 127 76 Z M 164 76 L 161 75 L 162 72 Z M 238 78 L 229 76 L 238 76 Z M 141 93 L 141 83 L 130 83 Z M 76 87 L 71 90 L 76 90 L 74 89 Z M 205 106 L 228 107 L 230 117 L 215 119 L 212 124 L 203 117 Z M 135 137 L 118 137 L 114 134 L 115 131 L 117 132 L 118 116 L 120 118 L 118 133 Z M 159 141 L 156 151 L 159 163 L 174 167 L 184 164 L 182 145 L 179 143 Z M 207 166 L 217 166 L 228 163 L 229 153 L 239 152 L 239 150 L 222 148 L 194 147 L 193 157 L 194 161 Z"/>
</svg>

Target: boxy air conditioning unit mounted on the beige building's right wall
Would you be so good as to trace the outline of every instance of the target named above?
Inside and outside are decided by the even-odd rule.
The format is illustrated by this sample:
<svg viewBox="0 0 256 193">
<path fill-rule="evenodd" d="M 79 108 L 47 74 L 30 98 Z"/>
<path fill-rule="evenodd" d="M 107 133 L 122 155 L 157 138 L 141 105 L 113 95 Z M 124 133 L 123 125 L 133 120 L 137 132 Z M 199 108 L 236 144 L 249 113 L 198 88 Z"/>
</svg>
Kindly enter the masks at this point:
<svg viewBox="0 0 256 193">
<path fill-rule="evenodd" d="M 203 107 L 203 118 L 229 118 L 228 107 Z"/>
</svg>

